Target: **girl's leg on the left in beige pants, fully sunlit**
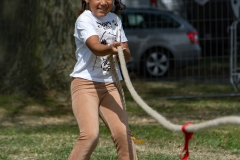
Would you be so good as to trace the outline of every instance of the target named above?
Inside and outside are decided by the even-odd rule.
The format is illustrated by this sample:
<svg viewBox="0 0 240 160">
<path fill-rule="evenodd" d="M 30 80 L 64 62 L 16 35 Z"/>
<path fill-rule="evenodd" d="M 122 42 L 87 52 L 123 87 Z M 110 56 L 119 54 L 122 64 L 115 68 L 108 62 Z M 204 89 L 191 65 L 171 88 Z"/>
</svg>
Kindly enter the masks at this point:
<svg viewBox="0 0 240 160">
<path fill-rule="evenodd" d="M 71 83 L 72 109 L 80 136 L 69 160 L 89 160 L 97 146 L 99 134 L 98 95 L 91 81 L 80 78 Z"/>
</svg>

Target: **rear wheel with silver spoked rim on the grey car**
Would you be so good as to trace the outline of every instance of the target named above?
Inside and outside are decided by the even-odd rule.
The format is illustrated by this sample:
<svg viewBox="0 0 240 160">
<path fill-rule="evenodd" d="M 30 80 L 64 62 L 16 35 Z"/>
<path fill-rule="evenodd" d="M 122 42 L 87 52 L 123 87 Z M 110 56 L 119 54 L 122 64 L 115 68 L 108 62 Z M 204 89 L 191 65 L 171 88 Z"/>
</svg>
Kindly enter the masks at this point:
<svg viewBox="0 0 240 160">
<path fill-rule="evenodd" d="M 170 70 L 170 55 L 166 50 L 150 50 L 143 59 L 147 76 L 163 77 Z"/>
</svg>

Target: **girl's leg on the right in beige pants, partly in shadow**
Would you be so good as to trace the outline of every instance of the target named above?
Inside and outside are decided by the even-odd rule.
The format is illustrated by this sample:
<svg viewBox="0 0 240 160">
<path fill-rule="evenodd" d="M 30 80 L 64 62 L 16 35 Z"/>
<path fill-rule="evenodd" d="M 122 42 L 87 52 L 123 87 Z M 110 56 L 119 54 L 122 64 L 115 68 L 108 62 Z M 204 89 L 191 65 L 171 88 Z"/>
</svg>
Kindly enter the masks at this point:
<svg viewBox="0 0 240 160">
<path fill-rule="evenodd" d="M 101 101 L 100 116 L 112 133 L 118 159 L 137 160 L 127 113 L 122 105 L 119 92 L 114 84 L 107 85 L 107 90 L 108 94 Z"/>
</svg>

